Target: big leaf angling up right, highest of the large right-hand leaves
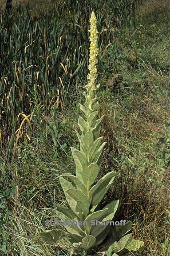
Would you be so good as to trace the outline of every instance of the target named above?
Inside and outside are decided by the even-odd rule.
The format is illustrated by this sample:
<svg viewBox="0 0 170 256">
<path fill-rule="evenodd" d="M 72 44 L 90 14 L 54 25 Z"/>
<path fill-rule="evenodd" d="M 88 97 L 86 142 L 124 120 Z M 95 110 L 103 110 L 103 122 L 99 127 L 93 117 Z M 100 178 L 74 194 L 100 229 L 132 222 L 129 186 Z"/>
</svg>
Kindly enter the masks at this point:
<svg viewBox="0 0 170 256">
<path fill-rule="evenodd" d="M 101 178 L 89 191 L 89 199 L 91 200 L 91 208 L 98 205 L 110 188 L 115 179 L 116 172 L 109 172 Z"/>
</svg>

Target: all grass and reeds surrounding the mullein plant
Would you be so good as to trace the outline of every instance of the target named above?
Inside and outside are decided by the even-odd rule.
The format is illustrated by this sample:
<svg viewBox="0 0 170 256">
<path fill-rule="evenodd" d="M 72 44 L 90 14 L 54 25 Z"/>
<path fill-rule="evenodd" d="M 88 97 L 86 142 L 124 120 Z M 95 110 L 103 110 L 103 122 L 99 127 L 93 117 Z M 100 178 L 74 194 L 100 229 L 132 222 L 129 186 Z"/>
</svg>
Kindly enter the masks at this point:
<svg viewBox="0 0 170 256">
<path fill-rule="evenodd" d="M 102 204 L 121 200 L 116 218 L 133 222 L 139 256 L 169 256 L 170 4 L 83 3 L 17 1 L 7 14 L 0 1 L 0 256 L 67 255 L 39 232 L 66 203 L 58 176 L 75 172 L 91 8 L 106 115 L 100 175 L 121 174 Z"/>
</svg>

